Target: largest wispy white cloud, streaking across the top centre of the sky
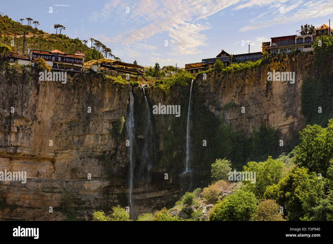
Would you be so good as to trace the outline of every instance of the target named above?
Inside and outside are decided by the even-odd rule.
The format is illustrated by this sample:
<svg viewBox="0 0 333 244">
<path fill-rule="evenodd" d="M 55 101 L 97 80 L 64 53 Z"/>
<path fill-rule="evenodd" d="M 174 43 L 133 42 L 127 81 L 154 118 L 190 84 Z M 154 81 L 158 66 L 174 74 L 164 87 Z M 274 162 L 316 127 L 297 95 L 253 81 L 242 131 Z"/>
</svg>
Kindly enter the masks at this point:
<svg viewBox="0 0 333 244">
<path fill-rule="evenodd" d="M 115 0 L 108 1 L 99 13 L 92 13 L 89 19 L 103 22 L 112 18 L 115 24 L 127 28 L 130 26 L 124 33 L 114 36 L 113 42 L 135 45 L 166 32 L 171 38 L 168 39 L 168 47 L 165 47 L 169 49 L 169 53 L 193 54 L 199 52 L 198 47 L 207 45 L 207 36 L 200 32 L 211 29 L 208 22 L 200 20 L 239 1 L 241 0 L 184 0 L 179 3 L 176 0 L 141 0 L 133 2 L 129 6 L 130 13 L 126 13 L 128 3 Z M 203 13 L 202 6 L 207 8 L 206 13 Z M 161 40 L 161 47 L 164 47 L 164 41 Z"/>
</svg>

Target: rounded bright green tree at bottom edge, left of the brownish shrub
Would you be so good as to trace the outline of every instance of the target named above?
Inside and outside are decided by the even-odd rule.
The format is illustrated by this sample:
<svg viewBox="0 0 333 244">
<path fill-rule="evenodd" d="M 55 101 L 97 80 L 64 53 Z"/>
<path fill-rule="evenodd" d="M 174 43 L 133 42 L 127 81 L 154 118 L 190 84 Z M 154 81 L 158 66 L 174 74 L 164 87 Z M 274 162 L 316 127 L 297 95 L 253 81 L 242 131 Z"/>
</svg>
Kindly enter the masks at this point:
<svg viewBox="0 0 333 244">
<path fill-rule="evenodd" d="M 252 192 L 241 188 L 216 204 L 210 212 L 209 221 L 249 221 L 256 212 L 257 203 Z"/>
</svg>

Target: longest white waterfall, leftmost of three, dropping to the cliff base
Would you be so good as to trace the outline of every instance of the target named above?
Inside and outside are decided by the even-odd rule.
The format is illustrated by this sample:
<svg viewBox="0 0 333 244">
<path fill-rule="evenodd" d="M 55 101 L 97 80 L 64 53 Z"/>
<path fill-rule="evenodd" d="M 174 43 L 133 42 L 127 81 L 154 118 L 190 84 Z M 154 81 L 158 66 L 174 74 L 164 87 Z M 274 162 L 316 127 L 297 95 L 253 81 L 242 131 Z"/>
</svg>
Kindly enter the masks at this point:
<svg viewBox="0 0 333 244">
<path fill-rule="evenodd" d="M 126 119 L 126 131 L 127 131 L 127 137 L 130 141 L 130 148 L 128 152 L 128 156 L 130 158 L 130 211 L 131 216 L 133 218 L 133 204 L 132 204 L 132 189 L 133 189 L 133 172 L 134 172 L 134 98 L 132 89 L 130 92 L 130 102 L 127 112 L 127 119 Z"/>
</svg>

